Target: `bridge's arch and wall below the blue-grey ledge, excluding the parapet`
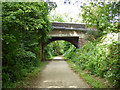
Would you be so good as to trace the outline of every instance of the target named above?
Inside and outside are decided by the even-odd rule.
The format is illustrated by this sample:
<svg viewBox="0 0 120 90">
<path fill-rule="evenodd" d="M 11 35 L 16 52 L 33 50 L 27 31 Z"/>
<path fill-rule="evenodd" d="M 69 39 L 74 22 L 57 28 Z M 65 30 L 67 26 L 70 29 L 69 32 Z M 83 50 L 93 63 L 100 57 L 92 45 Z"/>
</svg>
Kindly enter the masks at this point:
<svg viewBox="0 0 120 90">
<path fill-rule="evenodd" d="M 81 48 L 85 44 L 86 35 L 85 30 L 66 30 L 66 29 L 54 29 L 49 35 L 51 39 L 49 39 L 46 44 L 57 40 L 65 40 L 72 43 L 76 48 Z"/>
</svg>

